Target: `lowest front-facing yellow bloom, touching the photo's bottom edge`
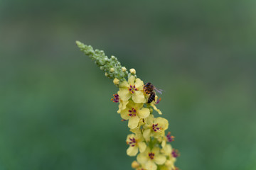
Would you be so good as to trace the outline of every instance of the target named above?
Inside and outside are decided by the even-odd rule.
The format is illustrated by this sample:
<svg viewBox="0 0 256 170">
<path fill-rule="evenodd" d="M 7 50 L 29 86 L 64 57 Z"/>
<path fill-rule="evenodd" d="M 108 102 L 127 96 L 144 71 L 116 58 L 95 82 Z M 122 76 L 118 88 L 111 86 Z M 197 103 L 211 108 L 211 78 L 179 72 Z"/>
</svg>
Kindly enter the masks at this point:
<svg viewBox="0 0 256 170">
<path fill-rule="evenodd" d="M 146 147 L 144 152 L 138 154 L 137 161 L 140 164 L 143 164 L 148 170 L 156 170 L 156 164 L 164 164 L 164 162 L 166 162 L 166 157 L 160 154 L 159 147 L 154 147 L 153 149 Z"/>
</svg>

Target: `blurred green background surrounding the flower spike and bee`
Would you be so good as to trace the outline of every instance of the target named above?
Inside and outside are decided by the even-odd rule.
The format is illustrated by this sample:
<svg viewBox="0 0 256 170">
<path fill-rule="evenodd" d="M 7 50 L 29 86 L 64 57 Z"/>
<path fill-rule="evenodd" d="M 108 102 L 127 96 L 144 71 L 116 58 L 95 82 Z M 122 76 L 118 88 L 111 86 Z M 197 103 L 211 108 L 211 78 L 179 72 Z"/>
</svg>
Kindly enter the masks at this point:
<svg viewBox="0 0 256 170">
<path fill-rule="evenodd" d="M 256 169 L 256 1 L 0 1 L 0 169 L 132 169 L 75 40 L 165 92 L 182 170 Z"/>
</svg>

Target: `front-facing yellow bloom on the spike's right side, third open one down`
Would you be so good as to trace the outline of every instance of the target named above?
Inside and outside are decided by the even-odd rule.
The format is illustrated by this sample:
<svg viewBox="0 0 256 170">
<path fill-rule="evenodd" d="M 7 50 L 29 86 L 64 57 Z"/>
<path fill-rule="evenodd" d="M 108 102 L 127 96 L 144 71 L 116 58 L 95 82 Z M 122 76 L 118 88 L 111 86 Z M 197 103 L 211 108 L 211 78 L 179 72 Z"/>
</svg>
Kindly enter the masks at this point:
<svg viewBox="0 0 256 170">
<path fill-rule="evenodd" d="M 165 118 L 154 118 L 148 119 L 147 123 L 144 125 L 143 136 L 146 141 L 150 140 L 150 137 L 155 137 L 157 140 L 162 140 L 164 137 L 164 130 L 169 126 L 168 120 Z"/>
</svg>

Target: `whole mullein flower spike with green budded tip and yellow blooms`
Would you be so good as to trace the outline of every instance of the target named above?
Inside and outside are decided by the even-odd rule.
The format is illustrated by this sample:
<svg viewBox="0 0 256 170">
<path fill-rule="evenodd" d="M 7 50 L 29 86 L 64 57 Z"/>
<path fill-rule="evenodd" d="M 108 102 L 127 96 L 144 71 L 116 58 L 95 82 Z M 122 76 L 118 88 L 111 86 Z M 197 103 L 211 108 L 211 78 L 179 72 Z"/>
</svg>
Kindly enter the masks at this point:
<svg viewBox="0 0 256 170">
<path fill-rule="evenodd" d="M 171 147 L 174 136 L 167 132 L 169 122 L 165 118 L 154 117 L 154 111 L 161 115 L 156 108 L 159 97 L 148 103 L 150 94 L 146 93 L 144 82 L 137 78 L 136 70 L 122 67 L 117 57 L 110 58 L 103 51 L 93 50 L 92 46 L 84 45 L 77 41 L 76 44 L 85 55 L 95 61 L 105 76 L 113 79 L 113 83 L 119 88 L 113 95 L 112 101 L 119 103 L 117 113 L 122 121 L 127 120 L 127 125 L 132 134 L 127 135 L 127 155 L 137 156 L 132 162 L 132 168 L 136 170 L 178 170 L 174 165 L 179 152 Z"/>
</svg>

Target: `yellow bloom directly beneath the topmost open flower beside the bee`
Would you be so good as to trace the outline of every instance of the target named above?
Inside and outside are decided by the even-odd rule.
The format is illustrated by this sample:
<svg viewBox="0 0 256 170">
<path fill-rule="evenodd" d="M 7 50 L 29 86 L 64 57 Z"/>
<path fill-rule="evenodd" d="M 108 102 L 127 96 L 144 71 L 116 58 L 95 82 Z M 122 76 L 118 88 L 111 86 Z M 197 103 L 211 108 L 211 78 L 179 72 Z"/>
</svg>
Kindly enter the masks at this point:
<svg viewBox="0 0 256 170">
<path fill-rule="evenodd" d="M 129 120 L 128 127 L 131 129 L 137 128 L 140 118 L 149 116 L 149 108 L 143 108 L 143 103 L 134 103 L 129 101 L 126 108 L 120 112 L 124 120 Z"/>
</svg>

